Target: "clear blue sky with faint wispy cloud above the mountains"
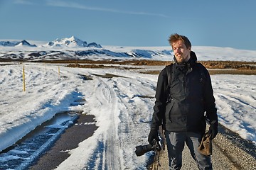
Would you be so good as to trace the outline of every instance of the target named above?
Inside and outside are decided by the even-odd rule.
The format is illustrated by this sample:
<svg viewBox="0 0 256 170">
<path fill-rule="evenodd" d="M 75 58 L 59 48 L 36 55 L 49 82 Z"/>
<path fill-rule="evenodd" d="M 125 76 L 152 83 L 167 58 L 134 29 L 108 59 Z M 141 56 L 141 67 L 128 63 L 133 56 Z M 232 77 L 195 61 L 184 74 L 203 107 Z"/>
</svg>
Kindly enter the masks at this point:
<svg viewBox="0 0 256 170">
<path fill-rule="evenodd" d="M 0 0 L 0 39 L 69 38 L 117 46 L 192 45 L 256 50 L 255 0 Z"/>
</svg>

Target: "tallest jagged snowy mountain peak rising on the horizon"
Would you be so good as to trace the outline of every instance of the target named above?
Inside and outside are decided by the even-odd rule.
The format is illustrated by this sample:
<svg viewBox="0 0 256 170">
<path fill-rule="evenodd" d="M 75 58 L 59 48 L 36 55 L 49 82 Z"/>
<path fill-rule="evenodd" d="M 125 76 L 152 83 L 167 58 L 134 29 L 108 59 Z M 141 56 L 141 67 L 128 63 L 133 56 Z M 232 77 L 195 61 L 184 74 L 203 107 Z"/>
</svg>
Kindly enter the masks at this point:
<svg viewBox="0 0 256 170">
<path fill-rule="evenodd" d="M 101 45 L 97 44 L 96 42 L 92 42 L 87 44 L 86 41 L 80 40 L 75 36 L 70 38 L 63 38 L 63 39 L 56 39 L 54 41 L 48 42 L 45 47 L 97 47 L 102 48 Z"/>
</svg>

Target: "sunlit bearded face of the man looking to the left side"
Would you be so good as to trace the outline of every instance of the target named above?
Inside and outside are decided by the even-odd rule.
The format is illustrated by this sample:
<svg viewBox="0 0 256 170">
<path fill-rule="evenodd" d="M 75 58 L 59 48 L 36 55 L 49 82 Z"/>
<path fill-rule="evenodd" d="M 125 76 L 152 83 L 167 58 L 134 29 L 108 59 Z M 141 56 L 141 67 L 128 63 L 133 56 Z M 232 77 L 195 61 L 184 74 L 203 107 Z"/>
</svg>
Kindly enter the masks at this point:
<svg viewBox="0 0 256 170">
<path fill-rule="evenodd" d="M 174 50 L 174 55 L 178 63 L 188 62 L 191 52 L 190 47 L 187 48 L 182 40 L 177 40 L 171 46 Z"/>
</svg>

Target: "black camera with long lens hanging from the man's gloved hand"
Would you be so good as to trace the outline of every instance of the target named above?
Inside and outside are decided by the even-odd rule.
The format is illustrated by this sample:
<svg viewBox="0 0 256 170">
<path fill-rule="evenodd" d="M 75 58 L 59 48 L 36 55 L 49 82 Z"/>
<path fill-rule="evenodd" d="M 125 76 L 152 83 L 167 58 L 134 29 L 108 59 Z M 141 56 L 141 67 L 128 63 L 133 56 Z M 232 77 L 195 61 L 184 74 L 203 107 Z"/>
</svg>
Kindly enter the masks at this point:
<svg viewBox="0 0 256 170">
<path fill-rule="evenodd" d="M 137 157 L 139 157 L 149 151 L 161 151 L 161 142 L 156 142 L 156 140 L 153 140 L 153 145 L 139 145 L 135 148 L 135 154 L 137 155 Z"/>
</svg>

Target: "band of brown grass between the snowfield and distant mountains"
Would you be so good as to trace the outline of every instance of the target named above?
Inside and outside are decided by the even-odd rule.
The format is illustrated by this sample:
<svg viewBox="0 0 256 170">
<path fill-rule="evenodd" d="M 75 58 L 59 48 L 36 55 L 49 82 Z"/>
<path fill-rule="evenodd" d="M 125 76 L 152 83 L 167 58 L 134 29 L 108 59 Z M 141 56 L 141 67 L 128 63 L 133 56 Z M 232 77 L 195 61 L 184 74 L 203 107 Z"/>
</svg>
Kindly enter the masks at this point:
<svg viewBox="0 0 256 170">
<path fill-rule="evenodd" d="M 56 62 L 56 61 L 54 61 Z M 59 61 L 70 63 L 67 67 L 80 67 L 80 68 L 118 68 L 118 69 L 134 69 L 130 67 L 124 67 L 124 65 L 168 65 L 170 61 L 154 61 L 154 60 L 75 60 L 75 61 Z M 232 61 L 202 61 L 201 62 L 210 72 L 210 74 L 245 74 L 256 75 L 256 62 L 232 62 Z M 113 64 L 107 66 L 104 64 Z M 142 72 L 145 74 L 159 74 L 159 71 L 147 71 Z"/>
</svg>

